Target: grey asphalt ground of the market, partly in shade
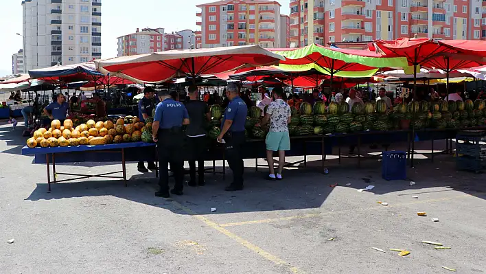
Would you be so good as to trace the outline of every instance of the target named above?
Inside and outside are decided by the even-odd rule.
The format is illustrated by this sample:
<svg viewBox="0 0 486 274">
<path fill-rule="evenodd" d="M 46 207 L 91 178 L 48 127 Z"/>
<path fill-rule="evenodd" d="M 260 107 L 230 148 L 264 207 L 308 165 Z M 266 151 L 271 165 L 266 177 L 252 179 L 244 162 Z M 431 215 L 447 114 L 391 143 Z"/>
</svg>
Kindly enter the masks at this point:
<svg viewBox="0 0 486 274">
<path fill-rule="evenodd" d="M 433 163 L 417 155 L 403 181 L 381 179 L 378 159 L 360 168 L 356 159 L 331 159 L 322 175 L 319 157 L 310 157 L 310 168 L 287 169 L 283 181 L 262 179 L 267 170 L 255 172 L 248 160 L 242 192 L 224 192 L 229 178 L 207 174 L 206 186 L 164 199 L 153 195 L 154 174 L 140 174 L 136 163 L 127 164 L 128 187 L 84 179 L 47 193 L 45 165 L 21 156 L 24 144 L 20 131 L 0 126 L 2 274 L 486 272 L 485 175 L 456 171 L 450 155 Z M 120 168 L 79 163 L 58 165 L 58 172 Z M 368 185 L 375 187 L 357 191 Z"/>
</svg>

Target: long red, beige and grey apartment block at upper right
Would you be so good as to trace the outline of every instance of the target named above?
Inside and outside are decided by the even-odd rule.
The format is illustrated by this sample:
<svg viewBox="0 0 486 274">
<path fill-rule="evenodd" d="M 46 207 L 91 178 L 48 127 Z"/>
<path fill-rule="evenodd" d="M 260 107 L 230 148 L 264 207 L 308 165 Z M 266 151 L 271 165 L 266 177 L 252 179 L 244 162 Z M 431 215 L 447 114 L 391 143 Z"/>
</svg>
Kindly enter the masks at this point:
<svg viewBox="0 0 486 274">
<path fill-rule="evenodd" d="M 479 0 L 291 0 L 290 44 L 486 38 Z"/>
</svg>

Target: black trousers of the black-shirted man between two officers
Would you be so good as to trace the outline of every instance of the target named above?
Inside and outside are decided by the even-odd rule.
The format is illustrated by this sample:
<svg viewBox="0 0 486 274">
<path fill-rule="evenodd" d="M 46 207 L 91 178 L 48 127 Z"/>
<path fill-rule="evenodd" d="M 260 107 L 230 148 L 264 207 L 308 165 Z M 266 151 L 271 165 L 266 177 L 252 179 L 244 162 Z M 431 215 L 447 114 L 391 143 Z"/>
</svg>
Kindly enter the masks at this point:
<svg viewBox="0 0 486 274">
<path fill-rule="evenodd" d="M 198 179 L 204 181 L 204 155 L 207 152 L 206 137 L 187 137 L 186 140 L 191 181 L 196 182 L 196 161 L 198 161 Z"/>
</svg>

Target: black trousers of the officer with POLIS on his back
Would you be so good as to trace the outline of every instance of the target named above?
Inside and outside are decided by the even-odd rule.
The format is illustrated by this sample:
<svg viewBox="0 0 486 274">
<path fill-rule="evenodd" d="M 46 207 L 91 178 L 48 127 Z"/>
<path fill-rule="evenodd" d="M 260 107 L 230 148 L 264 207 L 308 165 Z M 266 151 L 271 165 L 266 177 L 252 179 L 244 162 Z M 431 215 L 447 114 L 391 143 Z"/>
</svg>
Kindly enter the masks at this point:
<svg viewBox="0 0 486 274">
<path fill-rule="evenodd" d="M 158 138 L 159 186 L 161 191 L 169 190 L 169 163 L 176 181 L 174 189 L 183 190 L 183 131 L 181 128 L 159 129 Z"/>
</svg>

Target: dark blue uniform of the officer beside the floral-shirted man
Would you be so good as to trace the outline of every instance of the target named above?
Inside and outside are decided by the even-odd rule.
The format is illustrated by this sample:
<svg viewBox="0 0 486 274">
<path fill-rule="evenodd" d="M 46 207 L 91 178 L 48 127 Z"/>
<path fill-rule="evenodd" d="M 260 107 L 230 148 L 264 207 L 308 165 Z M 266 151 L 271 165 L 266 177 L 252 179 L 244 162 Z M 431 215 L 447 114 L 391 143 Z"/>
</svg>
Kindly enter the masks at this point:
<svg viewBox="0 0 486 274">
<path fill-rule="evenodd" d="M 226 157 L 229 168 L 233 171 L 233 182 L 231 187 L 241 189 L 243 187 L 243 156 L 242 146 L 245 141 L 244 137 L 244 123 L 246 121 L 246 114 L 248 108 L 245 102 L 240 97 L 235 97 L 229 102 L 226 111 L 224 111 L 224 119 L 222 124 L 228 119 L 233 121 L 228 130 L 224 141 L 226 141 Z"/>
</svg>

